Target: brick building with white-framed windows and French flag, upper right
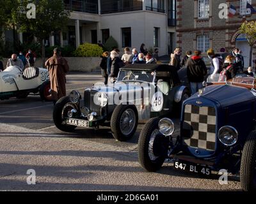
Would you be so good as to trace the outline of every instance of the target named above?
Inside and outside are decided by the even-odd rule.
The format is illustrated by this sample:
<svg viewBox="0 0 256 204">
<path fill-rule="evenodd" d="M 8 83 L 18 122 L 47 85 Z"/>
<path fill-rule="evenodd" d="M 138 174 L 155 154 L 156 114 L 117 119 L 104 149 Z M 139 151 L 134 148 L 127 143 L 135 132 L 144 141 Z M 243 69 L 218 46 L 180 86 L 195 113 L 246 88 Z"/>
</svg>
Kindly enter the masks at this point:
<svg viewBox="0 0 256 204">
<path fill-rule="evenodd" d="M 220 18 L 221 3 L 236 8 L 234 17 Z M 177 0 L 177 45 L 186 50 L 231 52 L 235 47 L 243 51 L 245 66 L 249 64 L 250 47 L 238 30 L 245 20 L 256 20 L 256 13 L 246 9 L 250 3 L 256 9 L 256 0 Z M 256 59 L 256 46 L 253 60 Z"/>
</svg>

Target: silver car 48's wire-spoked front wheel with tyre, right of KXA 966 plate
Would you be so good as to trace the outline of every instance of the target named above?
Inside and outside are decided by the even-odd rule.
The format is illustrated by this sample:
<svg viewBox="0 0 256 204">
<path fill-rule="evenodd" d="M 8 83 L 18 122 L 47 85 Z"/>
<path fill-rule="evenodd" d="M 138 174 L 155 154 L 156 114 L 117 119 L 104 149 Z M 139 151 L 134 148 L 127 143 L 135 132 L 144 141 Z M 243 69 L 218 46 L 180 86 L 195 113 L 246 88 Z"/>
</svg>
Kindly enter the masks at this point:
<svg viewBox="0 0 256 204">
<path fill-rule="evenodd" d="M 130 119 L 130 121 L 128 121 Z M 132 123 L 131 123 L 131 120 Z M 129 123 L 129 126 L 125 126 Z M 138 111 L 134 105 L 118 105 L 116 106 L 111 117 L 111 131 L 116 140 L 125 142 L 130 140 L 136 132 L 138 126 Z M 125 128 L 128 129 L 126 130 Z"/>
</svg>

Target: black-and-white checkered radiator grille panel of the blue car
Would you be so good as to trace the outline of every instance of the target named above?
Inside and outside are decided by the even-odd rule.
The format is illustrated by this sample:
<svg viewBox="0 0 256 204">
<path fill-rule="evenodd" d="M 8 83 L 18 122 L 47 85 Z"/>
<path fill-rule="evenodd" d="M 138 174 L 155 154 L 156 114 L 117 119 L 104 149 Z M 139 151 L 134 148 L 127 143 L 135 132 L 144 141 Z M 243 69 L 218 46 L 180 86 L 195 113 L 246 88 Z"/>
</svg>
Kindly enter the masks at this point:
<svg viewBox="0 0 256 204">
<path fill-rule="evenodd" d="M 186 105 L 182 128 L 184 145 L 205 150 L 215 150 L 215 108 Z"/>
</svg>

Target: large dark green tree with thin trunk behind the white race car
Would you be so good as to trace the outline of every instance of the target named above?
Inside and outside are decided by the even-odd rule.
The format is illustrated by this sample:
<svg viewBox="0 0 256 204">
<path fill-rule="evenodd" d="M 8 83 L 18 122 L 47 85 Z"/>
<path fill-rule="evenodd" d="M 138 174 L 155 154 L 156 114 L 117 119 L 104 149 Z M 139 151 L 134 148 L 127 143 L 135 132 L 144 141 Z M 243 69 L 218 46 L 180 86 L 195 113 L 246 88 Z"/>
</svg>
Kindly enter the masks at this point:
<svg viewBox="0 0 256 204">
<path fill-rule="evenodd" d="M 17 6 L 12 9 L 12 22 L 19 32 L 32 33 L 42 47 L 42 59 L 45 61 L 44 40 L 52 33 L 58 33 L 68 23 L 70 12 L 65 10 L 62 0 L 16 0 Z M 35 18 L 28 18 L 28 4 L 36 6 Z M 24 12 L 25 11 L 25 12 Z"/>
</svg>

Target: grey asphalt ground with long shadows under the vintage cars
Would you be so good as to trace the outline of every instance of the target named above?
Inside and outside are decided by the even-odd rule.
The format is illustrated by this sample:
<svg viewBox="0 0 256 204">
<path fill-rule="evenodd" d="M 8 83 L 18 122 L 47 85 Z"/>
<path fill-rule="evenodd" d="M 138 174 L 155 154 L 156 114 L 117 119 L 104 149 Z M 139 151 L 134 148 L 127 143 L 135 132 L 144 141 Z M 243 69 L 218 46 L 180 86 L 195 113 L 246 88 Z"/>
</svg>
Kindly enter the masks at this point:
<svg viewBox="0 0 256 204">
<path fill-rule="evenodd" d="M 100 75 L 72 73 L 67 89 L 83 93 Z M 78 191 L 239 191 L 239 180 L 229 177 L 220 185 L 218 175 L 202 178 L 164 163 L 157 173 L 138 163 L 137 142 L 143 124 L 129 142 L 117 142 L 110 129 L 78 128 L 63 133 L 52 122 L 52 103 L 39 96 L 0 101 L 0 190 Z M 179 126 L 179 120 L 176 119 Z M 178 130 L 177 130 L 178 131 Z M 28 185 L 28 170 L 36 184 Z M 30 177 L 29 177 L 30 178 Z"/>
</svg>

